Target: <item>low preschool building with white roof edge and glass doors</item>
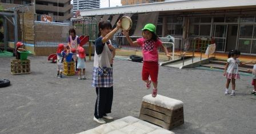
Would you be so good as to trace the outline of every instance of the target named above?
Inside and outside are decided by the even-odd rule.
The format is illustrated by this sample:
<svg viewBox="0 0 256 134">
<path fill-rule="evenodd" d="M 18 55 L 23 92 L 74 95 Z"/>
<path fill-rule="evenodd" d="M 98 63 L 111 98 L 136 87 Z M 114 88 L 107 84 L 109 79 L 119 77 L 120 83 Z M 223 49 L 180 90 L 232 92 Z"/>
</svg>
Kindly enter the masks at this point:
<svg viewBox="0 0 256 134">
<path fill-rule="evenodd" d="M 141 36 L 146 23 L 157 26 L 160 37 L 210 40 L 217 52 L 238 49 L 256 55 L 256 1 L 178 0 L 81 11 L 82 17 L 109 20 L 131 17 L 132 36 Z"/>
</svg>

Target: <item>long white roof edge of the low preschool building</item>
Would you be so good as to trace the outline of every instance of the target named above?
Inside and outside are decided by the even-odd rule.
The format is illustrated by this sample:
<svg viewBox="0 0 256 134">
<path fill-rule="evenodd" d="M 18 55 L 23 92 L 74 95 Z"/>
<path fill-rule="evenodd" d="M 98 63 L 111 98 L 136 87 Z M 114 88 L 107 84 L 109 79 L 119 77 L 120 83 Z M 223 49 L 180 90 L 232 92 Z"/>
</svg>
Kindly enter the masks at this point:
<svg viewBox="0 0 256 134">
<path fill-rule="evenodd" d="M 145 13 L 153 11 L 198 11 L 247 9 L 256 7 L 256 0 L 179 0 L 155 2 L 141 5 L 109 7 L 81 11 L 81 16 L 105 14 Z"/>
</svg>

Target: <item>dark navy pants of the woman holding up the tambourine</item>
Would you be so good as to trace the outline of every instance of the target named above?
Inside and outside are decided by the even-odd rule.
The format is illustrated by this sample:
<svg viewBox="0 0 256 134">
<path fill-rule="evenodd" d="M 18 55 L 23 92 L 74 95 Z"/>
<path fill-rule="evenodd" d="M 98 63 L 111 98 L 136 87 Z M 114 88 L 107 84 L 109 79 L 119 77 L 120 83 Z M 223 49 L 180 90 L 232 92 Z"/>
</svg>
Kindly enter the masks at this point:
<svg viewBox="0 0 256 134">
<path fill-rule="evenodd" d="M 113 102 L 113 87 L 97 87 L 97 99 L 95 103 L 94 116 L 99 119 L 111 113 Z"/>
</svg>

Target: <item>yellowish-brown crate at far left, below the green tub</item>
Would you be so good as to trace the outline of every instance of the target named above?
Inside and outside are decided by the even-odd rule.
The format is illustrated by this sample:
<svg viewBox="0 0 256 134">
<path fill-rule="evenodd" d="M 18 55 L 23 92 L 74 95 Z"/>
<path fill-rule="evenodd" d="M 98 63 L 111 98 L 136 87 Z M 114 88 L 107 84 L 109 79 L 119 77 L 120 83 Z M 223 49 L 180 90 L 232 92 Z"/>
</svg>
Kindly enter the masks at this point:
<svg viewBox="0 0 256 134">
<path fill-rule="evenodd" d="M 30 60 L 13 59 L 11 62 L 11 74 L 30 74 Z"/>
</svg>

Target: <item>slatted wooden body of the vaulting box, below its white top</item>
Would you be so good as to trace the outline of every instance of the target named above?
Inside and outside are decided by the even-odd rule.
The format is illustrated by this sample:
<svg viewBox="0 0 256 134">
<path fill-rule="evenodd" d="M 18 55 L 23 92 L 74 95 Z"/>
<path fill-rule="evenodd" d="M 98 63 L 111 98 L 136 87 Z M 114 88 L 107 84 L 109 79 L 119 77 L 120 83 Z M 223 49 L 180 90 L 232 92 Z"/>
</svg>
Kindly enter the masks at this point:
<svg viewBox="0 0 256 134">
<path fill-rule="evenodd" d="M 172 110 L 142 101 L 139 119 L 170 130 L 184 123 L 183 107 Z"/>
</svg>

